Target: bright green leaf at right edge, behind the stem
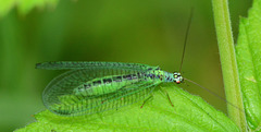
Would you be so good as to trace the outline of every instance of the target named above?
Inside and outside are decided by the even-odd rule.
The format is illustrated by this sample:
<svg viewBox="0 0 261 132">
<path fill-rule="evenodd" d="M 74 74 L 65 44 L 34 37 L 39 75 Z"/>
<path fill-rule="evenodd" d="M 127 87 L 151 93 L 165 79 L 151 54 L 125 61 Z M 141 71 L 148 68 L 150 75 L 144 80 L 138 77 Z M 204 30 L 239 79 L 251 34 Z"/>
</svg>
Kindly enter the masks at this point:
<svg viewBox="0 0 261 132">
<path fill-rule="evenodd" d="M 240 87 L 247 121 L 261 131 L 261 0 L 254 0 L 248 17 L 240 19 L 236 46 Z"/>
</svg>

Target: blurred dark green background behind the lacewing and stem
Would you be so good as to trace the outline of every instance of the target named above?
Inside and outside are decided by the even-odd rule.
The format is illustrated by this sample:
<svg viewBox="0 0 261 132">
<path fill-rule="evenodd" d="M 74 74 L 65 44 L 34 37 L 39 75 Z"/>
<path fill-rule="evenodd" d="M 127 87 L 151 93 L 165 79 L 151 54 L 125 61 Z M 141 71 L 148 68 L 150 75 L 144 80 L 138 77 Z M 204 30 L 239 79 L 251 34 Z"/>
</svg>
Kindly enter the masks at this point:
<svg viewBox="0 0 261 132">
<path fill-rule="evenodd" d="M 41 92 L 61 71 L 36 70 L 37 62 L 138 62 L 178 71 L 191 7 L 183 75 L 225 98 L 210 0 L 61 0 L 27 14 L 12 9 L 0 19 L 1 131 L 24 127 L 45 110 Z M 250 0 L 229 1 L 235 40 L 239 16 L 250 7 Z M 226 112 L 210 93 L 179 86 Z"/>
</svg>

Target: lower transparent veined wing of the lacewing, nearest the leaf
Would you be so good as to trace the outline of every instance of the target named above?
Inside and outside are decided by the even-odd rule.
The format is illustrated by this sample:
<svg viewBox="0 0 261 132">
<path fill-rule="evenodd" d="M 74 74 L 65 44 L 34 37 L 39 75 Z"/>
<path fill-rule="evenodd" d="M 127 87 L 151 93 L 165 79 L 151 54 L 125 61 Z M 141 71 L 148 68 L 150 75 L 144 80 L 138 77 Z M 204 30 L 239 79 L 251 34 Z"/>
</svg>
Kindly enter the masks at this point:
<svg viewBox="0 0 261 132">
<path fill-rule="evenodd" d="M 62 104 L 52 106 L 51 110 L 62 116 L 82 116 L 117 109 L 142 100 L 150 95 L 158 84 L 159 82 L 141 81 L 98 97 L 62 96 L 60 97 Z"/>
</svg>

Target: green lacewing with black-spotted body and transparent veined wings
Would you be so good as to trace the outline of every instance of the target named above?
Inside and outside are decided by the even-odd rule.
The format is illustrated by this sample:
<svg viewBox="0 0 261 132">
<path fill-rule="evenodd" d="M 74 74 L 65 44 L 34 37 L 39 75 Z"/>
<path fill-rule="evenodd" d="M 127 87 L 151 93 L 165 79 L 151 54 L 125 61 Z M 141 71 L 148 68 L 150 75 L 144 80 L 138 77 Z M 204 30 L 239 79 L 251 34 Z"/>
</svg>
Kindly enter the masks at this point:
<svg viewBox="0 0 261 132">
<path fill-rule="evenodd" d="M 61 116 L 115 109 L 146 98 L 160 83 L 183 81 L 181 73 L 139 63 L 60 61 L 36 68 L 70 70 L 53 79 L 42 94 L 45 106 Z"/>
</svg>

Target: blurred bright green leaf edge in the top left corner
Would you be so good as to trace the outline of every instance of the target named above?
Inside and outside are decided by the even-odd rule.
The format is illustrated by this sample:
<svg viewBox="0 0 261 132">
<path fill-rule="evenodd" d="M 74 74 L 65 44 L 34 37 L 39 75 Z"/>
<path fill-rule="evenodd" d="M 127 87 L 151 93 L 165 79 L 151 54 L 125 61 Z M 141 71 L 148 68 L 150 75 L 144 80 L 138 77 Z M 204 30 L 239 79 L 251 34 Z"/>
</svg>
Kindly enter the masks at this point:
<svg viewBox="0 0 261 132">
<path fill-rule="evenodd" d="M 1 0 L 0 1 L 0 17 L 5 15 L 14 7 L 21 14 L 28 13 L 35 7 L 44 8 L 45 5 L 55 5 L 58 0 Z"/>
</svg>

